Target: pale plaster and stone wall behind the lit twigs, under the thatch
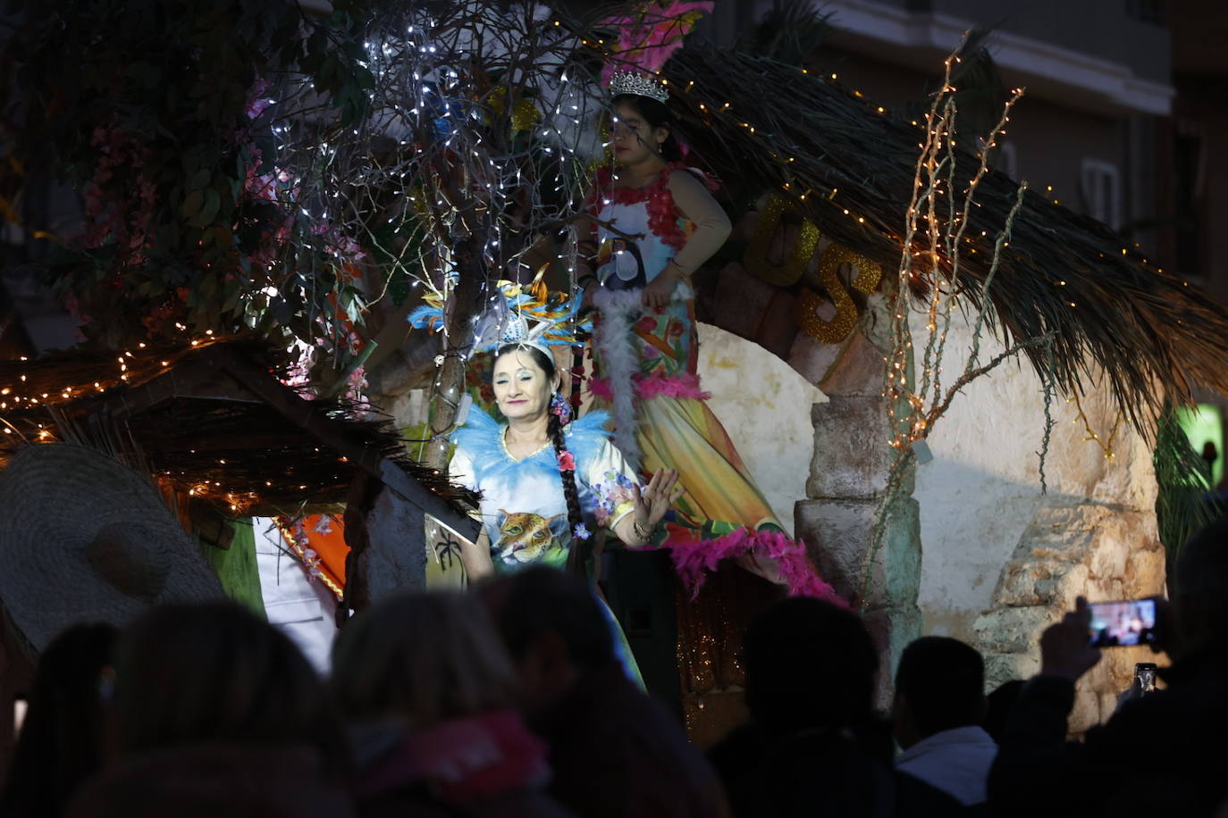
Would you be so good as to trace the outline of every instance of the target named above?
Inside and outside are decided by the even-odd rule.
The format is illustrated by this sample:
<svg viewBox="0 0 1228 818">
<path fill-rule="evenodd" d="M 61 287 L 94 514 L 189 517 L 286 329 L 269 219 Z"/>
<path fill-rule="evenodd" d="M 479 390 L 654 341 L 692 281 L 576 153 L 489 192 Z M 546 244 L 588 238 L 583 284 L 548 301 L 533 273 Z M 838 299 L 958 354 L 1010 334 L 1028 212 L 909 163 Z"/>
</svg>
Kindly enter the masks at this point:
<svg viewBox="0 0 1228 818">
<path fill-rule="evenodd" d="M 969 338 L 965 324 L 952 329 L 948 381 L 962 369 Z M 982 359 L 1001 348 L 990 340 Z M 1047 494 L 1036 456 L 1044 395 L 1027 362 L 970 384 L 928 439 L 935 460 L 917 467 L 923 628 L 977 646 L 990 687 L 1036 671 L 1040 632 L 1076 596 L 1121 600 L 1164 590 L 1151 450 L 1129 424 L 1116 423 L 1105 390 L 1089 392 L 1081 400 L 1086 423 L 1073 401 L 1055 397 Z M 1113 457 L 1087 439 L 1088 427 Z M 1149 649 L 1106 650 L 1079 686 L 1072 728 L 1106 717 L 1133 662 L 1153 659 Z"/>
</svg>

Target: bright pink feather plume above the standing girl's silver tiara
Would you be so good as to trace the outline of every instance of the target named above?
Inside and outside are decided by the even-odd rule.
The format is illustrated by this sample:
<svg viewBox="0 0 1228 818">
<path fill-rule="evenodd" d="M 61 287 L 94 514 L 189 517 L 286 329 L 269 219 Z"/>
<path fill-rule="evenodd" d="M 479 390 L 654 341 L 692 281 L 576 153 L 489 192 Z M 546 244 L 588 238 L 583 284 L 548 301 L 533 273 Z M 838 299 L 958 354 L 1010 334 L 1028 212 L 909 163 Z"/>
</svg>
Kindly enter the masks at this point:
<svg viewBox="0 0 1228 818">
<path fill-rule="evenodd" d="M 630 15 L 618 15 L 602 21 L 618 28 L 618 45 L 602 70 L 602 82 L 610 93 L 635 93 L 658 102 L 669 98 L 656 75 L 670 54 L 682 48 L 683 37 L 700 17 L 710 13 L 712 0 L 675 0 L 646 2 Z"/>
</svg>

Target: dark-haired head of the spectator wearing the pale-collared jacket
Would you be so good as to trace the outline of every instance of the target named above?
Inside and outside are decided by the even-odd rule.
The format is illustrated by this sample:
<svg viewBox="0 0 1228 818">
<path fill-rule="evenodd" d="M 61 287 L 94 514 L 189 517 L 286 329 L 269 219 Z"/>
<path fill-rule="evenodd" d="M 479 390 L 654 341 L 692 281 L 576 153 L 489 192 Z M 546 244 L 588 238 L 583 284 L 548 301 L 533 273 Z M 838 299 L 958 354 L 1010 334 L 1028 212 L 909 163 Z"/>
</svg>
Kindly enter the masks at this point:
<svg viewBox="0 0 1228 818">
<path fill-rule="evenodd" d="M 895 740 L 905 749 L 922 738 L 981 724 L 985 662 L 958 639 L 922 636 L 895 671 Z"/>
</svg>

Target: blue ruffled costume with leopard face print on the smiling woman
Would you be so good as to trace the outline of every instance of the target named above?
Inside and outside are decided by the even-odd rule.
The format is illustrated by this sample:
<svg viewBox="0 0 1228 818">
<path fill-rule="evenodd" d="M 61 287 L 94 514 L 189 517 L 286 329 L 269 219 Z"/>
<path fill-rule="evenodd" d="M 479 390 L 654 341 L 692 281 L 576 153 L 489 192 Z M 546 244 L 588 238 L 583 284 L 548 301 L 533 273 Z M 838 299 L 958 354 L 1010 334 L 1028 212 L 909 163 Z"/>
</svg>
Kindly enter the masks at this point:
<svg viewBox="0 0 1228 818">
<path fill-rule="evenodd" d="M 576 489 L 585 527 L 613 527 L 635 508 L 635 471 L 610 443 L 608 416 L 591 412 L 564 427 L 567 451 L 576 466 Z M 452 440 L 457 444 L 448 475 L 452 481 L 481 493 L 479 513 L 490 540 L 490 559 L 496 574 L 529 565 L 565 569 L 575 532 L 567 522 L 567 498 L 562 493 L 559 459 L 553 444 L 517 460 L 507 450 L 507 426 L 497 423 L 476 405 Z M 602 605 L 624 668 L 643 684 L 623 629 L 609 607 Z"/>
</svg>

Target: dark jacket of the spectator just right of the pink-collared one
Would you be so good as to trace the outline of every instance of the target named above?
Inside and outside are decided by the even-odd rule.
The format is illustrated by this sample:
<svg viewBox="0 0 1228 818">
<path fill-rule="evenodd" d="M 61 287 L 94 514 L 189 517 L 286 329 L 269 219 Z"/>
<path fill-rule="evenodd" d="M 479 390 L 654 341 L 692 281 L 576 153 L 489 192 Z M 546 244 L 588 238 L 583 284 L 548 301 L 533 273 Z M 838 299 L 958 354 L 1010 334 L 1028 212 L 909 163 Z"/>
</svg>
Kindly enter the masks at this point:
<svg viewBox="0 0 1228 818">
<path fill-rule="evenodd" d="M 722 818 L 721 785 L 664 708 L 608 665 L 530 722 L 550 744 L 550 793 L 585 818 Z"/>
</svg>

